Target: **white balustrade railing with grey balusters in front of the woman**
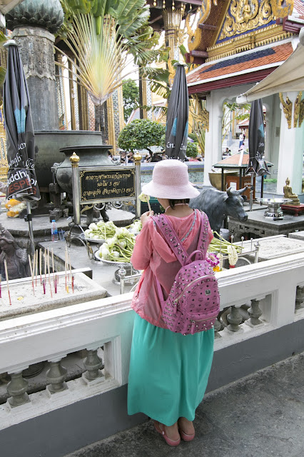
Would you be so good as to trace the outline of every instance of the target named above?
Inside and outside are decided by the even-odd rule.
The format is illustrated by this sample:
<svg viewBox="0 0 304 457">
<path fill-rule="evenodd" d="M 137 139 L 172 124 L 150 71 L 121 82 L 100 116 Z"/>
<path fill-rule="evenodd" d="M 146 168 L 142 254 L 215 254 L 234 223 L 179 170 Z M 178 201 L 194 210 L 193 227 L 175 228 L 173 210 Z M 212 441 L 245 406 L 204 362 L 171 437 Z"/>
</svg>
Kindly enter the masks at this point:
<svg viewBox="0 0 304 457">
<path fill-rule="evenodd" d="M 223 316 L 226 313 L 228 325 L 221 331 L 221 323 L 216 326 L 215 351 L 304 319 L 303 253 L 222 271 L 217 277 L 221 312 Z M 0 373 L 11 373 L 12 377 L 8 386 L 11 397 L 0 406 L 0 429 L 127 383 L 132 295 L 0 322 Z M 247 311 L 249 318 L 242 323 Z M 86 372 L 65 382 L 61 359 L 83 348 L 88 349 Z M 48 386 L 28 396 L 22 371 L 40 361 L 50 363 Z"/>
</svg>

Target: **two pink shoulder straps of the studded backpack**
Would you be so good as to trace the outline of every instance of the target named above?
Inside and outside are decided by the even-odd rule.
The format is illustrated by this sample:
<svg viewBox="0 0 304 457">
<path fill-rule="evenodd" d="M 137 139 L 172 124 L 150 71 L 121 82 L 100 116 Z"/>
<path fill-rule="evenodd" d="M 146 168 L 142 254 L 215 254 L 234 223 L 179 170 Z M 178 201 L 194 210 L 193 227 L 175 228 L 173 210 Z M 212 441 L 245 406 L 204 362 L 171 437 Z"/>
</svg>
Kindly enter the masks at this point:
<svg viewBox="0 0 304 457">
<path fill-rule="evenodd" d="M 206 257 L 207 252 L 207 235 L 208 235 L 208 218 L 205 213 L 200 213 L 198 210 L 197 215 L 201 215 L 201 231 L 198 237 L 198 250 L 203 253 L 203 257 Z M 183 247 L 181 240 L 178 238 L 176 231 L 173 229 L 173 226 L 165 214 L 160 214 L 158 216 L 152 216 L 153 221 L 156 223 L 156 226 L 161 230 L 165 240 L 168 243 L 168 246 L 172 249 L 173 253 L 176 255 L 176 258 L 184 265 L 188 259 L 188 253 Z"/>
</svg>

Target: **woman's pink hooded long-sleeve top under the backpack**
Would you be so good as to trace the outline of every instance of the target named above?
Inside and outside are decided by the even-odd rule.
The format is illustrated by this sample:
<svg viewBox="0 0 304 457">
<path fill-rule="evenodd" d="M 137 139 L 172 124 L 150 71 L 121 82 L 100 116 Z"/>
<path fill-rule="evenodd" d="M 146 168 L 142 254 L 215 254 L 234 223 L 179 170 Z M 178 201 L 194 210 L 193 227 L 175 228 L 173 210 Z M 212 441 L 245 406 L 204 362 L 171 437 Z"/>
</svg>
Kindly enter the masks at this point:
<svg viewBox="0 0 304 457">
<path fill-rule="evenodd" d="M 201 229 L 201 212 L 197 209 L 186 217 L 167 216 L 188 253 L 196 250 Z M 213 238 L 208 224 L 208 245 Z M 161 304 L 158 298 L 155 277 L 161 283 L 163 298 L 166 300 L 171 290 L 174 278 L 181 268 L 169 248 L 163 234 L 158 232 L 153 219 L 149 218 L 143 225 L 141 233 L 136 236 L 136 243 L 131 263 L 137 270 L 143 270 L 143 275 L 136 287 L 131 307 L 141 318 L 154 326 L 167 328 L 161 318 Z"/>
</svg>

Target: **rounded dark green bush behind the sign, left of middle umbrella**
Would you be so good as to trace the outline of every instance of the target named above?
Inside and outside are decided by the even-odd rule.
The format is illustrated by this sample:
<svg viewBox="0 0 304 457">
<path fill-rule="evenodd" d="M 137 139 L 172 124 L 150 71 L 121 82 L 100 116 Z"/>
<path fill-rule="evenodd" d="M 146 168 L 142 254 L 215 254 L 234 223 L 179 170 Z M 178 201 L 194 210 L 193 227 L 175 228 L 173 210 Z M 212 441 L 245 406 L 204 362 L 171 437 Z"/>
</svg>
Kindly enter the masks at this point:
<svg viewBox="0 0 304 457">
<path fill-rule="evenodd" d="M 118 146 L 126 151 L 145 149 L 147 146 L 163 146 L 161 143 L 166 127 L 148 119 L 136 119 L 124 127 L 118 136 Z"/>
</svg>

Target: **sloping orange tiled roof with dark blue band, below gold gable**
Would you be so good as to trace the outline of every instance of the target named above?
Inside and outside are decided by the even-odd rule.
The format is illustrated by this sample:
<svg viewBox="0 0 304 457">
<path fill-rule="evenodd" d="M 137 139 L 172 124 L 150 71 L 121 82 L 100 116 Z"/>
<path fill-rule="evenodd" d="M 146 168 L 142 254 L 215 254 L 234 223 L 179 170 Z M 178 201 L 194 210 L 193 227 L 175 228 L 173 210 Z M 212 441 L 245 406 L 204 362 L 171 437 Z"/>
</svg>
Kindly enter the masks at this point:
<svg viewBox="0 0 304 457">
<path fill-rule="evenodd" d="M 187 76 L 187 84 L 203 84 L 206 80 L 217 79 L 220 76 L 232 77 L 242 71 L 256 71 L 258 67 L 273 66 L 285 61 L 293 53 L 290 42 L 278 46 L 256 49 L 253 52 L 243 52 L 234 56 L 208 62 L 197 71 Z"/>
</svg>

